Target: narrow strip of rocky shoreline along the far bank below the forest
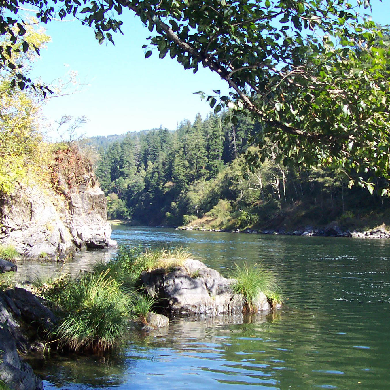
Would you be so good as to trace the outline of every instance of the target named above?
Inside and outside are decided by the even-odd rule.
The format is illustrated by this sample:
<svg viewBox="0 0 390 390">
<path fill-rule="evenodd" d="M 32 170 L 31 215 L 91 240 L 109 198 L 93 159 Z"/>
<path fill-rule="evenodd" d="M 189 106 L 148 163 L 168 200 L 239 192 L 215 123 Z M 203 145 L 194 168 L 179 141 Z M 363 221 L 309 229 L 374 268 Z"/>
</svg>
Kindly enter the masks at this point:
<svg viewBox="0 0 390 390">
<path fill-rule="evenodd" d="M 285 236 L 307 236 L 307 237 L 347 237 L 347 238 L 375 238 L 375 239 L 388 239 L 390 238 L 390 230 L 386 230 L 386 225 L 382 224 L 374 229 L 365 230 L 360 232 L 358 230 L 343 231 L 337 223 L 332 223 L 326 227 L 319 229 L 312 226 L 305 226 L 302 229 L 297 229 L 294 231 L 286 231 L 281 228 L 278 230 L 265 229 L 265 230 L 255 230 L 255 229 L 206 229 L 199 225 L 187 225 L 179 226 L 176 230 L 196 230 L 196 231 L 209 231 L 209 232 L 225 232 L 225 233 L 246 233 L 246 234 L 281 234 Z"/>
</svg>

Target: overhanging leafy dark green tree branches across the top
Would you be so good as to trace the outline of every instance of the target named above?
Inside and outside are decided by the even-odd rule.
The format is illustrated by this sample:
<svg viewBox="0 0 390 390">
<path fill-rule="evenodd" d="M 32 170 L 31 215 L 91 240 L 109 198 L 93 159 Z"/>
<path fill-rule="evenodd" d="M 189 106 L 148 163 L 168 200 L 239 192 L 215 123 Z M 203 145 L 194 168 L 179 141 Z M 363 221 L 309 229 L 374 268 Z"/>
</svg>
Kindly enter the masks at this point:
<svg viewBox="0 0 390 390">
<path fill-rule="evenodd" d="M 388 193 L 390 55 L 382 41 L 388 30 L 360 15 L 369 0 L 23 0 L 20 4 L 34 6 L 44 23 L 72 14 L 94 28 L 99 43 L 113 42 L 122 12 L 135 12 L 152 33 L 150 48 L 144 47 L 146 58 L 155 48 L 160 58 L 169 53 L 194 73 L 199 66 L 217 72 L 231 92 L 207 96 L 215 113 L 229 106 L 262 122 L 262 131 L 252 142 L 264 147 L 260 157 L 248 154 L 252 166 L 267 158 L 271 144 L 276 146 L 277 161 L 285 165 L 337 165 L 351 185 L 367 186 L 371 193 L 374 178 L 382 177 L 383 194 Z M 0 14 L 0 30 L 10 35 L 11 42 L 21 40 L 22 50 L 27 51 L 23 21 L 8 17 L 18 13 L 20 4 L 2 3 L 6 11 Z M 4 66 L 23 87 L 30 80 L 18 73 L 10 50 L 1 53 Z M 234 123 L 236 117 L 231 120 Z M 363 175 L 367 172 L 368 179 Z"/>
</svg>

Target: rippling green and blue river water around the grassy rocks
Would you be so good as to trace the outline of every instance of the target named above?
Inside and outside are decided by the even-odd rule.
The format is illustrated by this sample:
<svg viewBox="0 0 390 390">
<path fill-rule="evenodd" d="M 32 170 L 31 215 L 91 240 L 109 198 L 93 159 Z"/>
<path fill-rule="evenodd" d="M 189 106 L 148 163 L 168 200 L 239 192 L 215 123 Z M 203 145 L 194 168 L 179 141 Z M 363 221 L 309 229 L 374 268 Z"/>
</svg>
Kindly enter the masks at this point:
<svg viewBox="0 0 390 390">
<path fill-rule="evenodd" d="M 165 334 L 136 335 L 115 359 L 53 353 L 31 359 L 46 389 L 390 388 L 390 240 L 128 226 L 113 227 L 112 238 L 183 246 L 224 275 L 234 263 L 262 261 L 287 300 L 268 316 L 173 319 Z M 64 269 L 83 271 L 113 255 L 87 252 Z M 22 264 L 21 277 L 32 269 Z"/>
</svg>

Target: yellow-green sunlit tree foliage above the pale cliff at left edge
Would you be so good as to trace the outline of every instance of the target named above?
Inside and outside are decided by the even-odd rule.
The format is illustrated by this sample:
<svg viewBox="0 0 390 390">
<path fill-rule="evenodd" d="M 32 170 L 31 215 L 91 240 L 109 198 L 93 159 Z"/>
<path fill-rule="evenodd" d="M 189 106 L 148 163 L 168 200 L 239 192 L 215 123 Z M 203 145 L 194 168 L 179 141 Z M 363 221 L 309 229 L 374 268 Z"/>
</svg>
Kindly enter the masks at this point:
<svg viewBox="0 0 390 390">
<path fill-rule="evenodd" d="M 42 47 L 49 37 L 26 27 L 24 39 L 35 47 Z M 5 37 L 0 39 L 0 50 L 6 50 Z M 15 49 L 18 46 L 14 47 Z M 35 52 L 34 52 L 35 54 Z M 35 54 L 36 56 L 36 54 Z M 19 69 L 26 70 L 34 60 L 32 53 L 16 51 L 12 57 Z M 16 183 L 39 176 L 43 181 L 43 166 L 47 155 L 39 129 L 41 98 L 32 89 L 20 90 L 10 86 L 10 73 L 0 69 L 0 192 L 11 192 Z"/>
</svg>

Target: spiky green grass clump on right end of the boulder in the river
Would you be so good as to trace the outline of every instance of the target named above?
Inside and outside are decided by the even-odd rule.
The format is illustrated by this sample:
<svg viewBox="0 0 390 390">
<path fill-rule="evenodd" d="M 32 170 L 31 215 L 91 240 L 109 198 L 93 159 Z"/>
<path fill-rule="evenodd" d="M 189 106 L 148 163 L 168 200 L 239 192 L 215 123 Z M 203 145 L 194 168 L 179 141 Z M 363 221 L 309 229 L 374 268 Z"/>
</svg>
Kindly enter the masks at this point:
<svg viewBox="0 0 390 390">
<path fill-rule="evenodd" d="M 248 264 L 244 263 L 242 267 L 237 264 L 236 269 L 233 271 L 231 277 L 237 281 L 232 284 L 234 293 L 243 294 L 245 300 L 245 309 L 248 312 L 255 310 L 255 301 L 261 292 L 267 293 L 271 297 L 272 294 L 277 297 L 277 282 L 271 271 L 267 270 L 262 264 L 254 264 L 253 267 L 248 267 Z M 281 298 L 279 294 L 279 298 Z M 271 300 L 272 298 L 268 298 Z M 271 304 L 271 308 L 275 309 L 277 303 Z"/>
</svg>

